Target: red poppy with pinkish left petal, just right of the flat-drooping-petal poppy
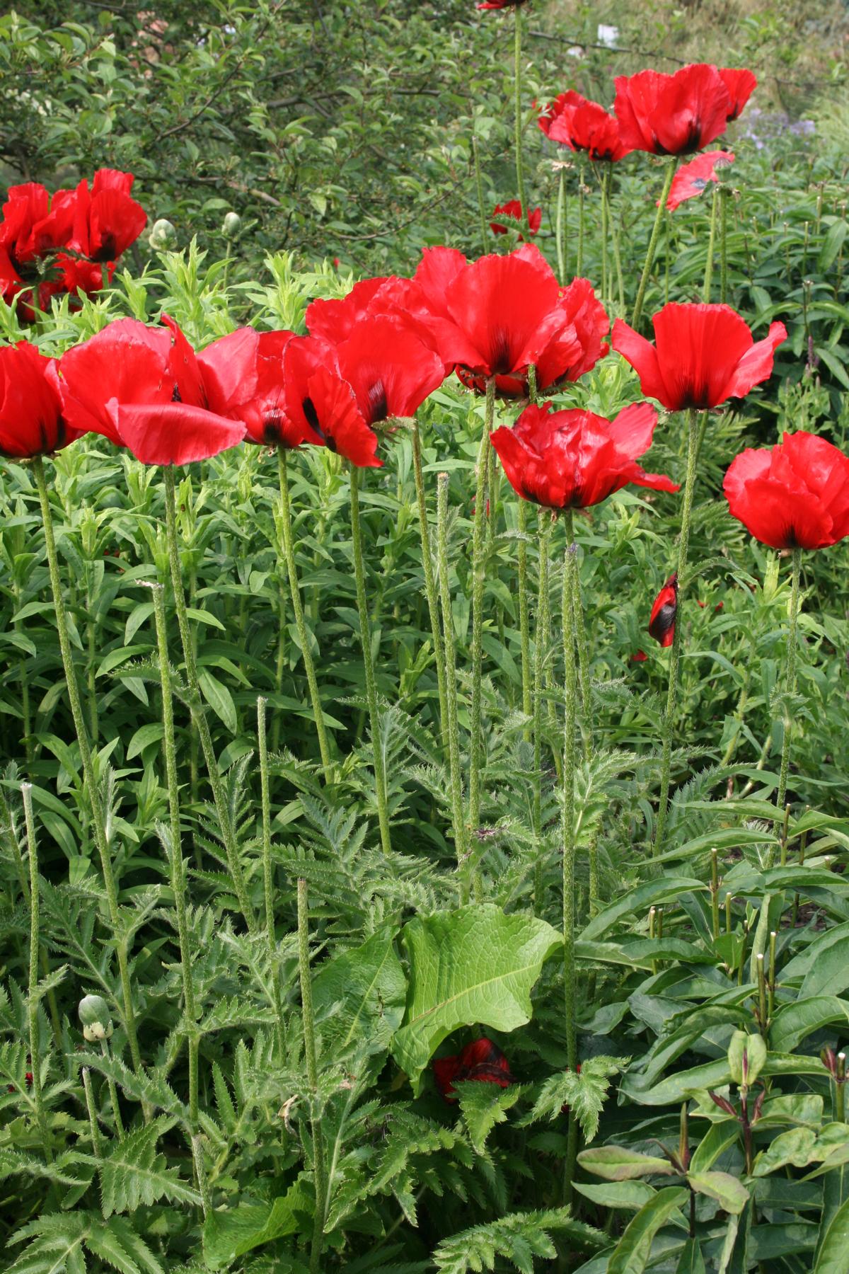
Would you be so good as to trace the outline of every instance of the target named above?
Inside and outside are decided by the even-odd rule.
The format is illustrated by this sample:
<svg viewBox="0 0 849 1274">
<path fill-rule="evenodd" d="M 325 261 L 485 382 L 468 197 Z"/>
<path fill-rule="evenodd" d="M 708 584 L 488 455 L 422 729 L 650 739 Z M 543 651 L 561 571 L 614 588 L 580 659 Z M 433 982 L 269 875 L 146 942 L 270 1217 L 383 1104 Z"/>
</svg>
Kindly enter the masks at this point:
<svg viewBox="0 0 849 1274">
<path fill-rule="evenodd" d="M 294 333 L 239 327 L 214 340 L 197 355 L 210 412 L 241 420 L 246 442 L 298 447 L 323 446 L 305 419 L 290 420 L 285 410 L 283 353 Z"/>
</svg>

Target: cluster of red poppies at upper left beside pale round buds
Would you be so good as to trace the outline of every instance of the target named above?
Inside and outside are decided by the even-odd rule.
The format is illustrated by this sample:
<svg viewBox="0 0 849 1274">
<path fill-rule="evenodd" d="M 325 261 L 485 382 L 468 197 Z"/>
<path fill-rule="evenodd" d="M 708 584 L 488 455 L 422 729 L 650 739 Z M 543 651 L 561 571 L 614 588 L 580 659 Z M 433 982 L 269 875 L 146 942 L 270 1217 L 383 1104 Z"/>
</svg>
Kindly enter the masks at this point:
<svg viewBox="0 0 849 1274">
<path fill-rule="evenodd" d="M 37 181 L 10 186 L 0 222 L 0 293 L 32 318 L 51 297 L 97 292 L 148 220 L 131 197 L 132 173 L 101 168 L 52 197 Z"/>
</svg>

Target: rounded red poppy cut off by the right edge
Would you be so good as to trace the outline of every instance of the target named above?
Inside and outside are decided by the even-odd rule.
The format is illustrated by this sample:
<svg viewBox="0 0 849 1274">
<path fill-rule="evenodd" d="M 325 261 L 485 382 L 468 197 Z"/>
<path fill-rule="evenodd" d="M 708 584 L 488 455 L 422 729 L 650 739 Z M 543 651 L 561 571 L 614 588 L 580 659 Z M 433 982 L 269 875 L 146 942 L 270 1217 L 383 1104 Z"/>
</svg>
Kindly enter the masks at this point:
<svg viewBox="0 0 849 1274">
<path fill-rule="evenodd" d="M 723 490 L 731 515 L 774 549 L 822 549 L 849 535 L 849 457 L 803 429 L 741 451 Z"/>
</svg>

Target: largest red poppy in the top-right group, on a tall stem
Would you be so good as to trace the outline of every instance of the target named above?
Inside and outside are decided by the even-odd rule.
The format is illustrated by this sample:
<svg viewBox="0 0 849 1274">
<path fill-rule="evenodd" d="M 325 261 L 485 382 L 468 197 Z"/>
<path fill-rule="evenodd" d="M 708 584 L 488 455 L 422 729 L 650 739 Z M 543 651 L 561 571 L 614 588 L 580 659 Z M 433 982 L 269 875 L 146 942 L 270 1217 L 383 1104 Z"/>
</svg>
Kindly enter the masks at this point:
<svg viewBox="0 0 849 1274">
<path fill-rule="evenodd" d="M 675 75 L 645 70 L 614 83 L 614 111 L 622 141 L 633 150 L 692 154 L 726 130 L 731 97 L 715 66 L 696 62 Z"/>
</svg>

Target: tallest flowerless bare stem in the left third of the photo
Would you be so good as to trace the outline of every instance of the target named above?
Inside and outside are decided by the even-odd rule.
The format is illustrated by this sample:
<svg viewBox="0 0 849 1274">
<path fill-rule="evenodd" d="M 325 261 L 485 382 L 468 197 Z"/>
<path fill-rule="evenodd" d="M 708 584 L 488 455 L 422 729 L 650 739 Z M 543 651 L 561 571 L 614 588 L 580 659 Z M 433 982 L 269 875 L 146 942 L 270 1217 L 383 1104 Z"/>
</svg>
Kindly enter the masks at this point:
<svg viewBox="0 0 849 1274">
<path fill-rule="evenodd" d="M 153 585 L 153 613 L 157 626 L 157 651 L 159 657 L 159 682 L 162 684 L 162 724 L 165 743 L 165 784 L 168 786 L 168 856 L 171 860 L 171 891 L 174 896 L 177 912 L 177 940 L 179 943 L 179 971 L 183 981 L 183 1009 L 186 1013 L 186 1034 L 188 1038 L 188 1122 L 192 1134 L 197 1133 L 197 1010 L 195 1006 L 195 984 L 192 981 L 192 957 L 186 919 L 186 870 L 182 852 L 182 833 L 179 828 L 179 784 L 177 780 L 177 741 L 174 735 L 174 699 L 171 684 L 171 662 L 168 660 L 168 627 L 165 624 L 165 598 L 160 583 Z"/>
</svg>

